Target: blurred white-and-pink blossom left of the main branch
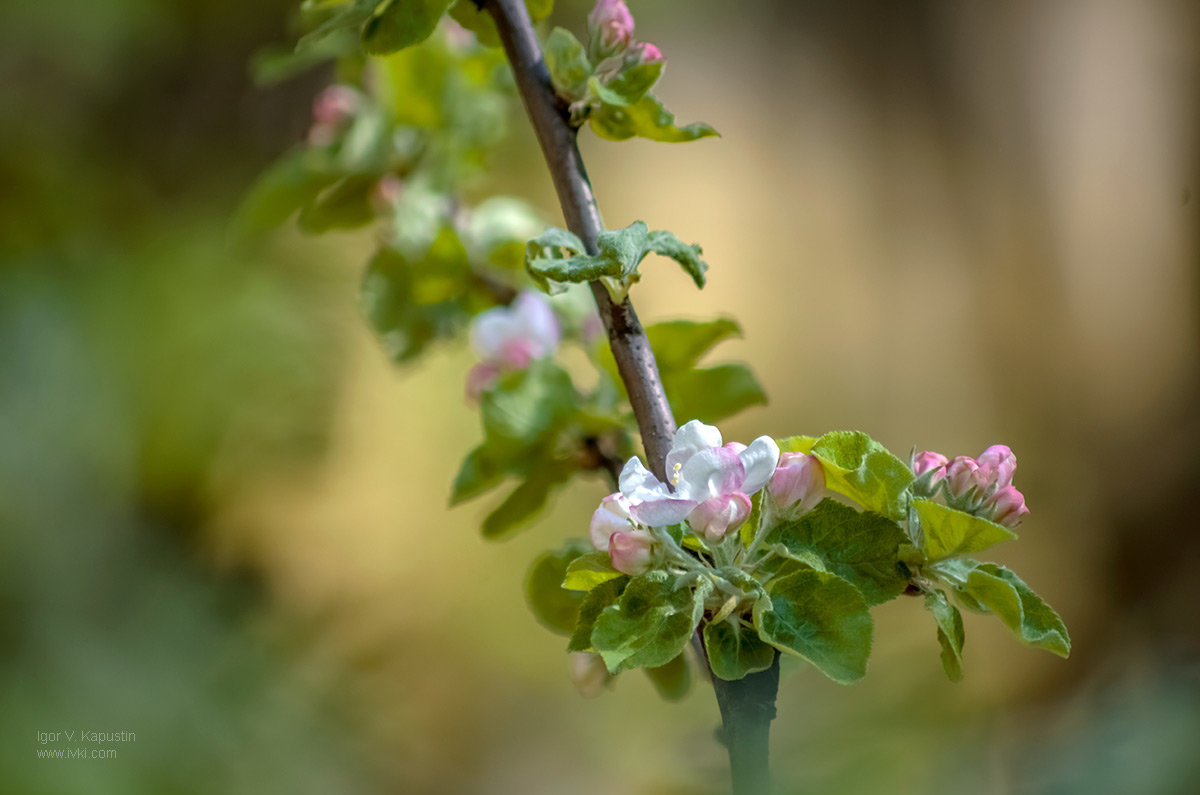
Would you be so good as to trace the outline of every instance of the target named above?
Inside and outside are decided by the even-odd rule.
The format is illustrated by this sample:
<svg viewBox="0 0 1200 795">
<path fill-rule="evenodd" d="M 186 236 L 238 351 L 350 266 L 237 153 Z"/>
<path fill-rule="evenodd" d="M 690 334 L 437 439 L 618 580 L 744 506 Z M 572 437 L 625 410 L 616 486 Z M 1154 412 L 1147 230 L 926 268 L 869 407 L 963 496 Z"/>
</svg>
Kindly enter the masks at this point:
<svg viewBox="0 0 1200 795">
<path fill-rule="evenodd" d="M 467 376 L 467 396 L 479 400 L 504 373 L 553 354 L 560 339 L 558 318 L 541 293 L 526 291 L 509 306 L 480 312 L 470 323 L 470 347 L 481 361 Z"/>
</svg>

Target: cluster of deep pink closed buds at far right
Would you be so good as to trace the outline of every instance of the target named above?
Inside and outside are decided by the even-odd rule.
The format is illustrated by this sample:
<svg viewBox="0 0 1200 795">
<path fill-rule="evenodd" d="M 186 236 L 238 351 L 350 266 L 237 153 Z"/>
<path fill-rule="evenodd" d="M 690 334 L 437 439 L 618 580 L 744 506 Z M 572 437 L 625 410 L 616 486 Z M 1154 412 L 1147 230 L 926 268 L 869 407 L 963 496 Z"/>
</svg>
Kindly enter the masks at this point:
<svg viewBox="0 0 1200 795">
<path fill-rule="evenodd" d="M 977 459 L 967 455 L 947 459 L 926 450 L 912 460 L 912 473 L 917 476 L 913 492 L 942 494 L 952 508 L 1015 527 L 1030 509 L 1025 507 L 1025 496 L 1013 485 L 1014 472 L 1016 456 L 1006 444 L 992 444 Z"/>
</svg>

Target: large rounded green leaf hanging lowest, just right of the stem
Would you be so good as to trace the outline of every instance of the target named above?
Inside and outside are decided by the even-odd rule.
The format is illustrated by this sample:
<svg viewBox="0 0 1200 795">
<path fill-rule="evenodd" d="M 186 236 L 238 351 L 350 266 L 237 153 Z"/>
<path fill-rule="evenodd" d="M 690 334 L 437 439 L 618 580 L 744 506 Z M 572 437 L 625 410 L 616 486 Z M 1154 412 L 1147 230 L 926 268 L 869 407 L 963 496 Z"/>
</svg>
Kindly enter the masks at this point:
<svg viewBox="0 0 1200 795">
<path fill-rule="evenodd" d="M 767 584 L 754 606 L 758 635 L 798 654 L 835 682 L 866 674 L 874 623 L 863 594 L 835 574 L 799 570 Z"/>
</svg>

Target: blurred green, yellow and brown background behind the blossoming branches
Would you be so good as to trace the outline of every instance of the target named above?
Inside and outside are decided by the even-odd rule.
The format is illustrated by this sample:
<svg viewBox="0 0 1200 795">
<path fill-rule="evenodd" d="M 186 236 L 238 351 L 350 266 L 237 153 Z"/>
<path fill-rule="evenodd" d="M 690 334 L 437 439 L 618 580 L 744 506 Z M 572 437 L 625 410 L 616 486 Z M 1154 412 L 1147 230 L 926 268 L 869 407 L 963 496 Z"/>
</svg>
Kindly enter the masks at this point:
<svg viewBox="0 0 1200 795">
<path fill-rule="evenodd" d="M 582 23 L 560 0 L 556 22 Z M 1192 793 L 1200 777 L 1200 7 L 1184 0 L 632 4 L 660 95 L 724 135 L 584 137 L 610 226 L 704 245 L 643 318 L 738 318 L 772 402 L 727 438 L 1007 442 L 995 557 L 1061 660 L 919 605 L 869 676 L 785 667 L 784 793 Z M 262 88 L 289 0 L 0 6 L 0 790 L 720 793 L 710 691 L 582 700 L 523 604 L 600 482 L 512 542 L 445 508 L 472 364 L 390 365 L 368 233 L 229 244 L 320 72 Z M 528 127 L 497 168 L 557 217 Z M 131 731 L 38 759 L 38 731 Z M 64 747 L 61 743 L 58 747 Z"/>
</svg>

